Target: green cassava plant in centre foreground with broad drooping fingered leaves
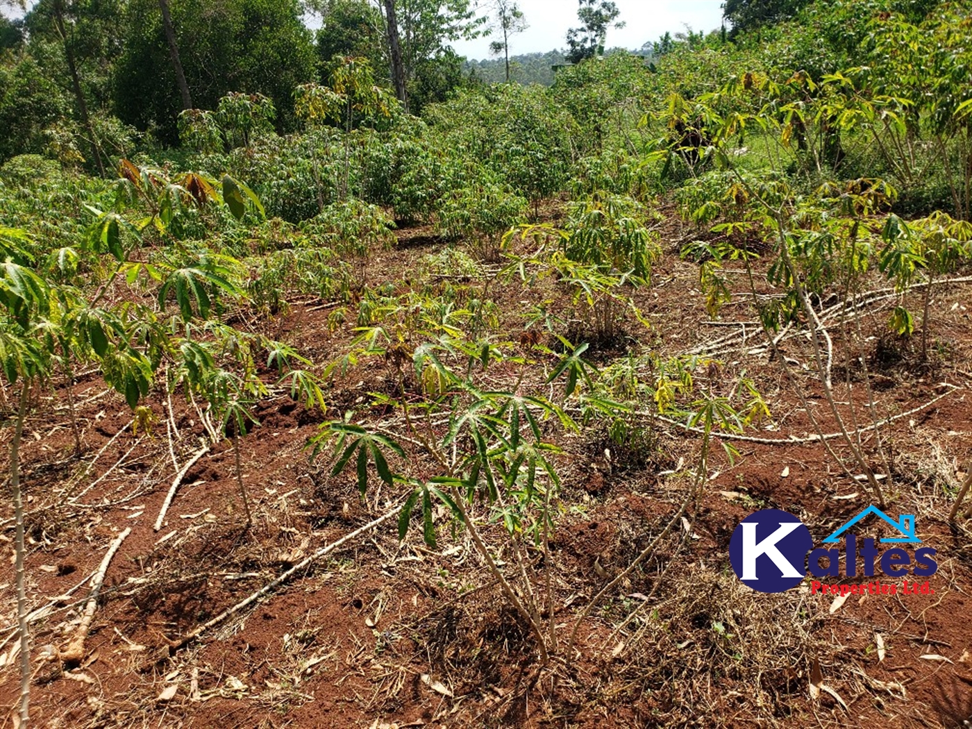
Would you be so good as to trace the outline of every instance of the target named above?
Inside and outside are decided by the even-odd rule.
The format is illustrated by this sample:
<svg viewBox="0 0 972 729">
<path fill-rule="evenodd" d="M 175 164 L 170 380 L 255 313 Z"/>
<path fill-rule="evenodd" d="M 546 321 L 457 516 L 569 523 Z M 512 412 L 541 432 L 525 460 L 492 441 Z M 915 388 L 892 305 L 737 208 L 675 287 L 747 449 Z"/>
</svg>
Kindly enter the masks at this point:
<svg viewBox="0 0 972 729">
<path fill-rule="evenodd" d="M 546 422 L 553 420 L 570 430 L 575 425 L 564 408 L 549 399 L 482 388 L 479 383 L 491 366 L 519 361 L 506 354 L 509 345 L 472 341 L 463 330 L 447 325 L 416 330 L 415 334 L 424 343 L 406 346 L 384 325 L 368 328 L 359 337 L 361 349 L 355 358 L 380 356 L 394 372 L 398 396 L 373 397 L 401 413 L 404 427 L 400 433 L 375 432 L 350 420 L 331 422 L 315 438 L 315 454 L 332 442 L 331 472 L 337 475 L 355 469 L 363 492 L 369 464 L 385 484 L 408 485 L 410 495 L 399 519 L 402 536 L 412 512 L 420 509 L 425 538 L 434 543 L 433 503 L 444 503 L 466 528 L 503 594 L 530 627 L 545 664 L 556 646 L 556 636 L 552 622 L 545 625 L 540 615 L 544 605 L 552 615 L 552 594 L 549 580 L 545 588 L 536 584 L 528 551 L 546 550 L 553 523 L 551 504 L 560 484 L 555 464 L 560 449 L 546 437 Z M 573 360 L 568 358 L 567 365 L 555 369 L 552 377 L 567 376 L 569 387 L 576 387 L 579 354 L 575 352 Z M 573 374 L 567 374 L 569 371 Z M 409 384 L 412 382 L 418 383 L 418 392 Z M 446 427 L 436 428 L 434 420 L 443 416 Z M 432 459 L 431 475 L 419 478 L 393 470 L 389 461 L 404 455 L 400 443 L 405 440 L 418 444 Z M 477 513 L 480 504 L 486 509 L 485 522 Z M 514 565 L 511 574 L 501 569 L 486 542 L 484 529 L 489 522 L 503 525 L 506 559 Z M 549 565 L 549 553 L 545 553 Z"/>
</svg>

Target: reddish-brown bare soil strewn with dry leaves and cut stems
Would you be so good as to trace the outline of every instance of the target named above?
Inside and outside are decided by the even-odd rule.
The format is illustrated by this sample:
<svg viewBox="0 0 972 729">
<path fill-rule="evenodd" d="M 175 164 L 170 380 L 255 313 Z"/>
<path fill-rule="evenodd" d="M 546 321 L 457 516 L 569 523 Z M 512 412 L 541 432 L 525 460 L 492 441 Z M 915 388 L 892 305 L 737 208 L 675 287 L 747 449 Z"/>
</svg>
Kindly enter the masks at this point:
<svg viewBox="0 0 972 729">
<path fill-rule="evenodd" d="M 854 352 L 850 367 L 834 325 L 835 383 L 850 377 L 858 385 L 842 406 L 854 401 L 858 412 L 866 410 L 857 359 L 864 358 L 880 417 L 893 418 L 882 429 L 892 468 L 885 481 L 890 513 L 916 515 L 920 538 L 938 550 L 939 570 L 930 578 L 934 594 L 854 595 L 832 610 L 833 596 L 806 588 L 754 593 L 729 567 L 729 538 L 758 508 L 798 515 L 819 540 L 872 497 L 812 439 L 814 429 L 781 365 L 751 352 L 761 331 L 724 326 L 752 322 L 745 296 L 724 309 L 723 324 L 712 324 L 698 291 L 698 266 L 677 256 L 678 240 L 689 233 L 674 223 L 665 228 L 665 256 L 652 285 L 637 295 L 652 327 L 625 323 L 641 344 L 622 342 L 592 354 L 605 364 L 623 357 L 625 346 L 662 356 L 696 349 L 720 363 L 708 369 L 713 381 L 746 369 L 773 419 L 749 432 L 760 442 L 732 441 L 740 452 L 734 463 L 717 449 L 692 521 L 591 613 L 573 656 L 555 658 L 537 674 L 534 639 L 444 509 L 436 549 L 422 542 L 420 530 L 399 542 L 391 520 L 199 640 L 173 647 L 315 549 L 387 511 L 399 495 L 383 487 L 363 500 L 351 475 L 332 477 L 327 463 L 311 463 L 305 445 L 325 415 L 280 394 L 260 404 L 260 427 L 241 441 L 253 528 L 245 529 L 225 440 L 186 473 L 156 532 L 176 472 L 173 458 L 181 467 L 204 435 L 198 413 L 175 399 L 170 418 L 168 402 L 156 397 L 151 431 L 133 434 L 123 400 L 81 373 L 72 392 L 82 455 L 74 454 L 63 383 L 35 393 L 22 455 L 28 594 L 32 609 L 44 608 L 33 623 L 34 725 L 967 726 L 972 539 L 967 520 L 952 528 L 946 516 L 958 479 L 972 468 L 972 286 L 946 283 L 935 290 L 930 364 L 920 363 L 914 342 L 885 333 L 893 299 L 866 308 L 867 350 Z M 400 231 L 398 247 L 369 262 L 369 283 L 403 286 L 408 279 L 417 286 L 414 271 L 442 245 L 427 230 Z M 514 332 L 523 328 L 524 301 L 551 295 L 516 281 L 495 286 L 493 294 L 509 303 L 501 307 L 502 328 Z M 918 308 L 919 295 L 911 297 Z M 279 323 L 282 338 L 315 362 L 338 356 L 351 334 L 349 327 L 330 330 L 331 308 L 323 301 L 296 303 Z M 832 432 L 819 387 L 803 366 L 809 361 L 803 340 L 797 335 L 782 346 L 823 430 Z M 381 392 L 387 377 L 375 363 L 336 379 L 328 417 Z M 538 373 L 535 384 L 541 383 Z M 839 384 L 838 390 L 847 395 Z M 380 420 L 380 411 L 373 416 Z M 664 422 L 655 423 L 652 438 L 648 458 L 623 450 L 606 458 L 607 435 L 596 430 L 560 438 L 567 455 L 551 568 L 560 606 L 555 618 L 564 629 L 658 534 L 683 498 L 700 438 Z M 864 431 L 863 438 L 872 466 L 881 470 L 874 433 Z M 12 514 L 4 500 L 5 557 L 12 554 Z M 884 536 L 877 525 L 867 526 Z M 65 668 L 41 660 L 69 640 L 88 577 L 128 527 L 131 535 L 108 570 L 86 657 Z M 0 726 L 11 725 L 19 690 L 14 581 L 12 561 L 5 559 Z M 827 690 L 815 699 L 809 684 L 817 670 Z"/>
</svg>

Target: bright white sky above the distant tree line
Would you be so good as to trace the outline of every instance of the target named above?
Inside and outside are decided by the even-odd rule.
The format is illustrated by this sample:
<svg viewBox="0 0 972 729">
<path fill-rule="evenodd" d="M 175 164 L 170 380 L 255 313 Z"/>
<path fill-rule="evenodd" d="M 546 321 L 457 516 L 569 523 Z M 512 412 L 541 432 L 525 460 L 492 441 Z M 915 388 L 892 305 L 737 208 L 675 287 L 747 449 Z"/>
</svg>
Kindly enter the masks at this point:
<svg viewBox="0 0 972 729">
<path fill-rule="evenodd" d="M 645 41 L 657 41 L 666 32 L 692 30 L 709 32 L 722 24 L 724 0 L 614 0 L 625 27 L 608 30 L 608 48 L 639 49 Z M 480 0 L 483 5 L 483 0 Z M 567 31 L 577 21 L 576 0 L 519 0 L 528 27 L 509 41 L 510 55 L 546 52 L 565 48 Z M 489 37 L 456 41 L 452 47 L 460 55 L 480 60 L 490 57 Z"/>
</svg>

